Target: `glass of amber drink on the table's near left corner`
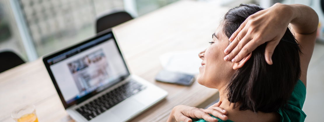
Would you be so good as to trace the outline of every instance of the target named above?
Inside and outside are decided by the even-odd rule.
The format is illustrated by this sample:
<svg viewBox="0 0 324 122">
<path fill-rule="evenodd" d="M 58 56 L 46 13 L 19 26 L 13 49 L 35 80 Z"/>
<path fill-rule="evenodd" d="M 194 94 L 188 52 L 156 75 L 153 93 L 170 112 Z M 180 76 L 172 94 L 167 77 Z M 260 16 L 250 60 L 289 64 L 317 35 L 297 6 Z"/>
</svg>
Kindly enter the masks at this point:
<svg viewBox="0 0 324 122">
<path fill-rule="evenodd" d="M 17 107 L 12 111 L 11 117 L 16 120 L 16 122 L 38 122 L 34 105 L 22 105 Z"/>
</svg>

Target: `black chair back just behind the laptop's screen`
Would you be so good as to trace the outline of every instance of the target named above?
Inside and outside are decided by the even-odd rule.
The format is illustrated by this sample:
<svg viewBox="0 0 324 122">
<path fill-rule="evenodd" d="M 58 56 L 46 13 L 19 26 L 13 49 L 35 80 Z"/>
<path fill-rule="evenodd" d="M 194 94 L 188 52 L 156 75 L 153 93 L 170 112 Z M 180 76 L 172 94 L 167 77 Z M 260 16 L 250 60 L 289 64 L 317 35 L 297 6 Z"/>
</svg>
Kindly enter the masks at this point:
<svg viewBox="0 0 324 122">
<path fill-rule="evenodd" d="M 128 20 L 133 19 L 133 17 L 125 11 L 114 11 L 104 13 L 98 17 L 96 22 L 97 33 L 111 28 L 113 26 L 124 23 Z"/>
</svg>

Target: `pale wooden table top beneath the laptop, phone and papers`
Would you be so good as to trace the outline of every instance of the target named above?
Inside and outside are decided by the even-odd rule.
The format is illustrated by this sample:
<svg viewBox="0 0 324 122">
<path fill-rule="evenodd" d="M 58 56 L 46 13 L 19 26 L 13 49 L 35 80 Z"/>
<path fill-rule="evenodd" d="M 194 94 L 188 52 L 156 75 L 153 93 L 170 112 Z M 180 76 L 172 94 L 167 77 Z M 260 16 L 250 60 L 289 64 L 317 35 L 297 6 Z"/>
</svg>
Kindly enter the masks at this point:
<svg viewBox="0 0 324 122">
<path fill-rule="evenodd" d="M 154 77 L 162 69 L 158 58 L 161 54 L 207 47 L 227 10 L 206 2 L 183 0 L 113 28 L 131 73 L 169 93 L 132 122 L 165 122 L 177 105 L 205 107 L 219 97 L 217 89 L 197 82 L 189 87 L 179 86 L 156 82 Z M 40 122 L 74 121 L 65 112 L 41 59 L 0 74 L 0 121 L 13 121 L 12 110 L 26 103 L 36 106 Z"/>
</svg>

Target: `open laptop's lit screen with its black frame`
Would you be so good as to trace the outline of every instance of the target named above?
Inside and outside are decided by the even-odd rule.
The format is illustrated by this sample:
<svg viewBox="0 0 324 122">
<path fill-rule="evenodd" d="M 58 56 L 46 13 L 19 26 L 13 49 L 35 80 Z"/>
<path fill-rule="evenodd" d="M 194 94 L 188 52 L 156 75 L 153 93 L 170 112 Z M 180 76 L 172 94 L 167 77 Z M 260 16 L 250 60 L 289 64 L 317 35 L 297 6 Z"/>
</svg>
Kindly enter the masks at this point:
<svg viewBox="0 0 324 122">
<path fill-rule="evenodd" d="M 80 103 L 84 97 L 91 97 L 129 75 L 111 32 L 61 51 L 46 63 L 67 106 Z"/>
</svg>

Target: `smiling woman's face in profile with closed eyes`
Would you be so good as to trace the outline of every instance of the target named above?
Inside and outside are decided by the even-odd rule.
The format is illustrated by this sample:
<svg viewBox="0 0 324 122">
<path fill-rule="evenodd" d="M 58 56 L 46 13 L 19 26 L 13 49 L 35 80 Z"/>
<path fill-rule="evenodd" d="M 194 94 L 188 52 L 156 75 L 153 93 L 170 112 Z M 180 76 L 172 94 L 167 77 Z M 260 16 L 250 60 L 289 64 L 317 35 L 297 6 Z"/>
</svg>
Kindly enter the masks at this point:
<svg viewBox="0 0 324 122">
<path fill-rule="evenodd" d="M 227 36 L 222 32 L 222 25 L 219 25 L 213 34 L 211 45 L 199 53 L 203 59 L 199 67 L 197 81 L 199 84 L 209 88 L 217 88 L 226 85 L 235 70 L 231 61 L 225 61 L 224 50 L 229 45 Z"/>
</svg>

